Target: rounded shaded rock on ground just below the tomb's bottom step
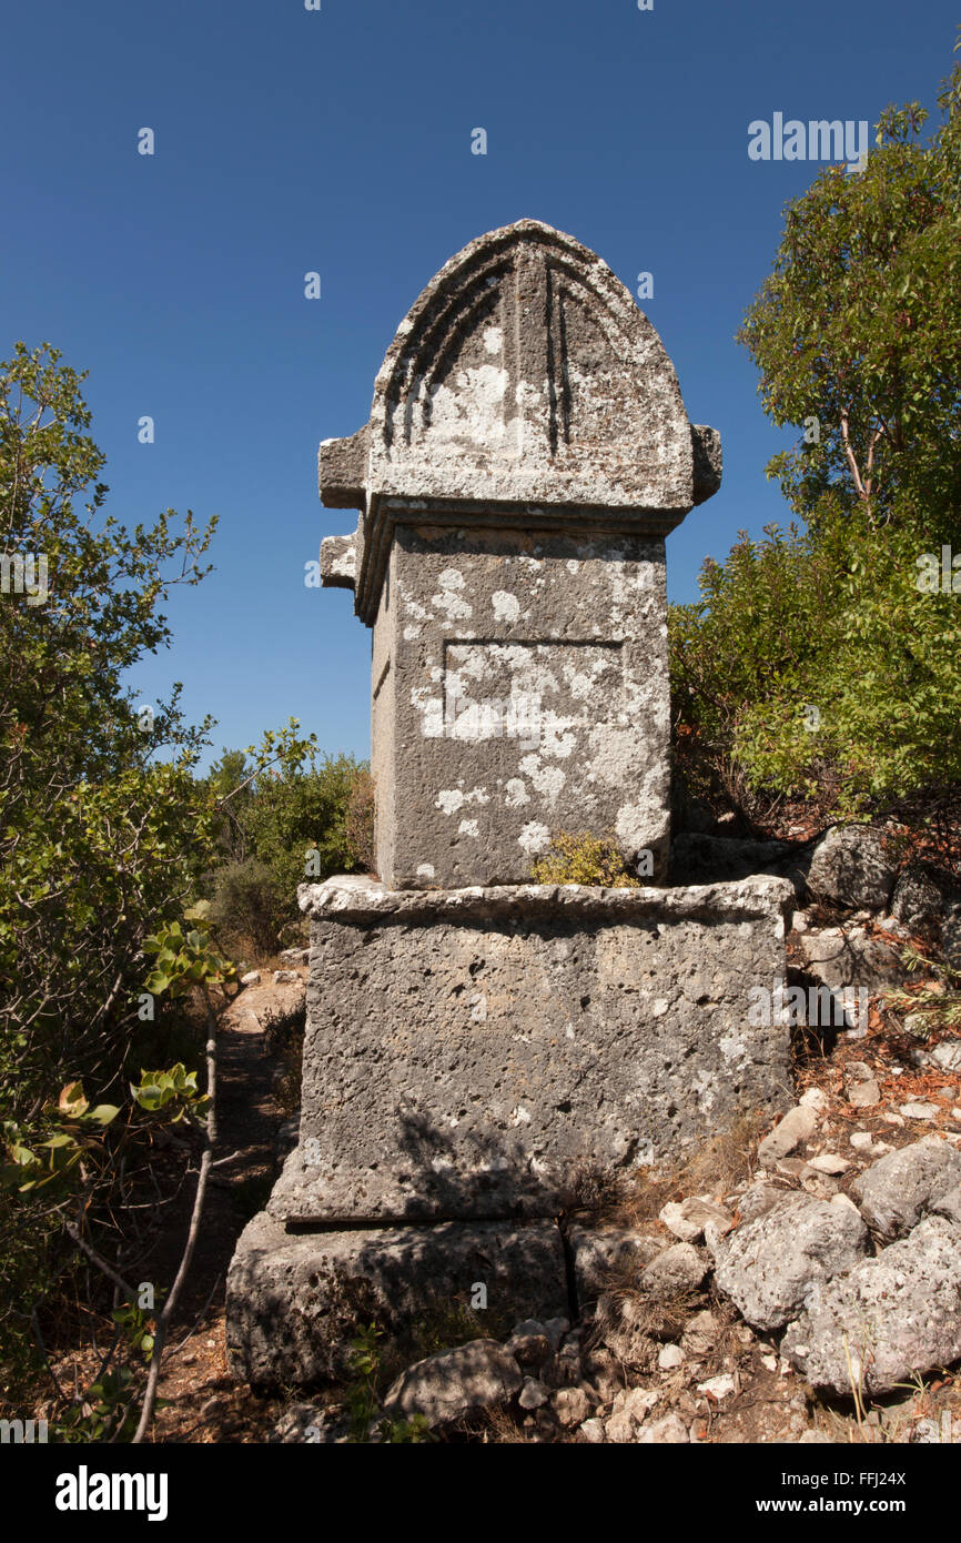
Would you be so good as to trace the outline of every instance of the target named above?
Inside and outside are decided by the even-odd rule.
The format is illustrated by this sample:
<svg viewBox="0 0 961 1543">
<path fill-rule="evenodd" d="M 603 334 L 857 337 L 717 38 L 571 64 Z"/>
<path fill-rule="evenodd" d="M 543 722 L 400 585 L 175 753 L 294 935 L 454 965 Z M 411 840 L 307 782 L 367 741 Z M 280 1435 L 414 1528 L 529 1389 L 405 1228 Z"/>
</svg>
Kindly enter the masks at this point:
<svg viewBox="0 0 961 1543">
<path fill-rule="evenodd" d="M 452 1424 L 506 1404 L 521 1384 L 517 1361 L 497 1339 L 470 1339 L 409 1366 L 387 1390 L 384 1413 L 390 1420 L 420 1415 L 429 1426 Z"/>
</svg>

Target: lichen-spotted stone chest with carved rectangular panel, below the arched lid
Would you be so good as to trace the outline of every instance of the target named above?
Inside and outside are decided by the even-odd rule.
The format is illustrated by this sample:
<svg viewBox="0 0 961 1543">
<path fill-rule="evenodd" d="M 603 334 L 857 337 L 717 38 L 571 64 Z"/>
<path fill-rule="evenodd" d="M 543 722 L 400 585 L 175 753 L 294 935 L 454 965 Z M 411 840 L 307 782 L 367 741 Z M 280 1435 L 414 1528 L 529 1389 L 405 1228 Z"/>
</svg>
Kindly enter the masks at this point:
<svg viewBox="0 0 961 1543">
<path fill-rule="evenodd" d="M 663 540 L 398 526 L 375 626 L 376 867 L 514 884 L 557 830 L 669 844 Z"/>
</svg>

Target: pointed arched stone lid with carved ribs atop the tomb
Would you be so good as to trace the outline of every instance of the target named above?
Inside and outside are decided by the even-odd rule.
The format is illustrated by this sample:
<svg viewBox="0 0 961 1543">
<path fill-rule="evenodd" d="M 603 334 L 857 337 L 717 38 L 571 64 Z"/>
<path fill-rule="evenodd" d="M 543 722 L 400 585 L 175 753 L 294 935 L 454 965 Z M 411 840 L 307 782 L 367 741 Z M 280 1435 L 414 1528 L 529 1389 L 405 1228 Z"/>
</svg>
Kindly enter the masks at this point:
<svg viewBox="0 0 961 1543">
<path fill-rule="evenodd" d="M 321 497 L 369 515 L 387 498 L 682 518 L 693 460 L 674 366 L 631 293 L 578 241 L 521 219 L 430 279 L 387 350 L 370 423 L 321 446 Z"/>
</svg>

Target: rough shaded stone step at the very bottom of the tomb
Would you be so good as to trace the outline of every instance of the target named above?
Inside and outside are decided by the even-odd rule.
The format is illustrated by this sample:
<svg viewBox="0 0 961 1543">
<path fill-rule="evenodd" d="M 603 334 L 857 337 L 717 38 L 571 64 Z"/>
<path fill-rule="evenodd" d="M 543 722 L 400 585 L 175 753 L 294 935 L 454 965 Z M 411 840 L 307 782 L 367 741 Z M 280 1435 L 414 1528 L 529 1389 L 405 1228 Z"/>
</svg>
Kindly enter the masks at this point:
<svg viewBox="0 0 961 1543">
<path fill-rule="evenodd" d="M 245 1227 L 227 1276 L 234 1378 L 265 1387 L 349 1372 L 358 1322 L 393 1333 L 487 1288 L 492 1319 L 568 1312 L 565 1254 L 552 1222 L 287 1233 L 267 1213 Z"/>
</svg>

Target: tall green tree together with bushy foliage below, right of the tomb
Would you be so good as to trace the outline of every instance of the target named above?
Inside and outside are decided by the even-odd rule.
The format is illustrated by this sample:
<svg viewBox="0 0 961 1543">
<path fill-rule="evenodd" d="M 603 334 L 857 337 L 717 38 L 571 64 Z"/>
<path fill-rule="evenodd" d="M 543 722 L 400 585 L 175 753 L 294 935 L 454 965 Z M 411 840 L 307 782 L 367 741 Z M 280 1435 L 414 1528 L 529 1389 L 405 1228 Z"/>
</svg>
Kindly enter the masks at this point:
<svg viewBox="0 0 961 1543">
<path fill-rule="evenodd" d="M 961 66 L 938 102 L 927 143 L 916 102 L 889 108 L 858 176 L 788 205 L 740 329 L 765 412 L 804 429 L 767 471 L 805 525 L 740 534 L 671 608 L 694 798 L 853 815 L 961 779 L 958 594 L 921 562 L 961 546 Z"/>
</svg>

